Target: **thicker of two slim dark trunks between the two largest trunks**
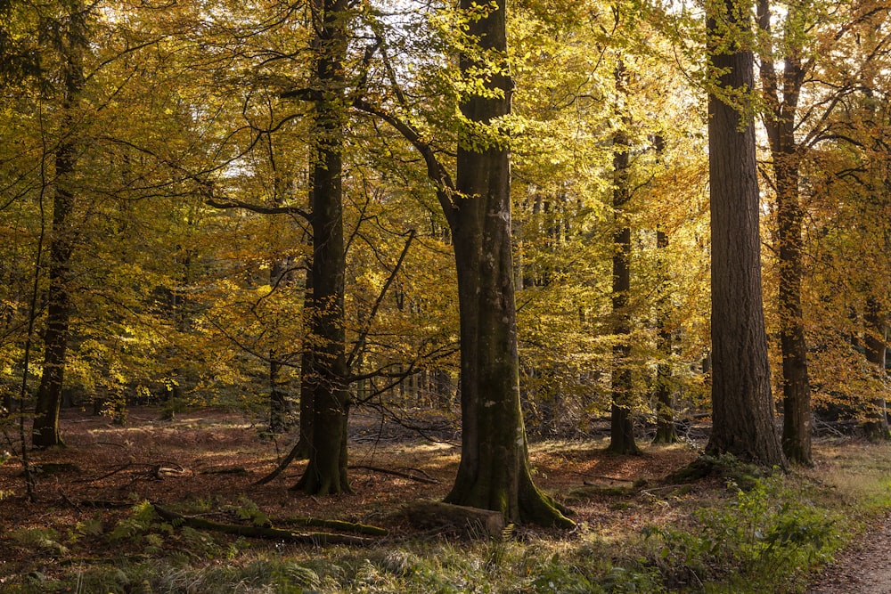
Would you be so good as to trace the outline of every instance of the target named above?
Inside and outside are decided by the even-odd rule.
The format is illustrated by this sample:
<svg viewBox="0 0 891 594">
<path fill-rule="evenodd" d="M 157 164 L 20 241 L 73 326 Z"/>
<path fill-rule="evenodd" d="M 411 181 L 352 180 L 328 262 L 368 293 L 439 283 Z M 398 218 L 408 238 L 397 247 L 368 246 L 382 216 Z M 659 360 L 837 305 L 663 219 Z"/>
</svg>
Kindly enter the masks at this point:
<svg viewBox="0 0 891 594">
<path fill-rule="evenodd" d="M 625 92 L 625 65 L 622 61 L 616 67 L 616 87 L 619 93 Z M 623 117 L 622 125 L 629 123 Z M 632 419 L 633 384 L 630 367 L 631 358 L 631 313 L 628 312 L 628 292 L 631 290 L 631 227 L 625 216 L 625 205 L 631 198 L 628 187 L 630 155 L 628 137 L 624 130 L 613 139 L 613 210 L 616 217 L 616 231 L 613 234 L 613 278 L 612 314 L 613 345 L 612 370 L 612 411 L 609 423 L 609 452 L 637 454 L 640 449 L 634 441 Z"/>
</svg>

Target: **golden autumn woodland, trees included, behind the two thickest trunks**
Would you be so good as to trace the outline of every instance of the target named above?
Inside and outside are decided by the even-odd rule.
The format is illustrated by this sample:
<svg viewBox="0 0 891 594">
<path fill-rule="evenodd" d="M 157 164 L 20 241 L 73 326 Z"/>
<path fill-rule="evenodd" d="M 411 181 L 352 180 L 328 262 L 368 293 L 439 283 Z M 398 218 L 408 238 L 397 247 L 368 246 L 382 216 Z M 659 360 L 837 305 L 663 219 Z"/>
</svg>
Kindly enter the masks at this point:
<svg viewBox="0 0 891 594">
<path fill-rule="evenodd" d="M 786 413 L 785 457 L 731 453 L 806 467 L 814 427 L 887 439 L 887 5 L 523 0 L 480 45 L 498 14 L 0 0 L 0 387 L 26 475 L 62 403 L 298 427 L 292 457 L 334 452 L 301 481 L 323 494 L 349 490 L 350 408 L 458 430 L 449 207 L 488 153 L 511 159 L 520 428 L 674 442 L 713 411 L 709 101 L 755 131 L 764 297 L 739 308 L 763 307 Z M 741 54 L 748 87 L 715 60 Z"/>
</svg>

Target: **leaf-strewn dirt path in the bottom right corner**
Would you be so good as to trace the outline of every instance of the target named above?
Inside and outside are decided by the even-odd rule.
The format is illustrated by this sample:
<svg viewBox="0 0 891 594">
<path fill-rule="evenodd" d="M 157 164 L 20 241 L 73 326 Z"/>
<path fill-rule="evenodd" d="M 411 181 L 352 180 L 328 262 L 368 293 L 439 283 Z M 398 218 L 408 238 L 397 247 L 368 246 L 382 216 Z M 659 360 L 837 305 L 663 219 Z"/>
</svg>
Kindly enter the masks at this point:
<svg viewBox="0 0 891 594">
<path fill-rule="evenodd" d="M 891 594 L 891 516 L 816 578 L 808 594 Z"/>
</svg>

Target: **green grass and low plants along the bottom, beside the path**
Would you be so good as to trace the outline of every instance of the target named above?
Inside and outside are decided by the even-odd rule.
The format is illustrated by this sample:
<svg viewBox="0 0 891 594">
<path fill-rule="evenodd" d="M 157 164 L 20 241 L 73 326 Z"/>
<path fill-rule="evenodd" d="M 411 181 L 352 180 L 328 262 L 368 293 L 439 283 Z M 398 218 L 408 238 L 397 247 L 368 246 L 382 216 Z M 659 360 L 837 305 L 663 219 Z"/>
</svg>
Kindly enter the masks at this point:
<svg viewBox="0 0 891 594">
<path fill-rule="evenodd" d="M 577 490 L 568 494 L 612 501 L 613 522 L 569 534 L 520 528 L 508 541 L 415 535 L 367 549 L 310 548 L 170 525 L 137 504 L 114 525 L 18 528 L 13 546 L 47 565 L 25 575 L 3 574 L 0 565 L 0 590 L 800 592 L 813 571 L 891 509 L 891 446 L 823 443 L 816 458 L 815 468 L 759 478 L 745 490 L 734 480 Z M 196 500 L 184 511 L 206 505 Z M 241 507 L 256 508 L 249 500 Z M 639 519 L 623 521 L 631 516 L 653 523 L 640 529 Z M 93 549 L 105 556 L 78 557 Z"/>
</svg>

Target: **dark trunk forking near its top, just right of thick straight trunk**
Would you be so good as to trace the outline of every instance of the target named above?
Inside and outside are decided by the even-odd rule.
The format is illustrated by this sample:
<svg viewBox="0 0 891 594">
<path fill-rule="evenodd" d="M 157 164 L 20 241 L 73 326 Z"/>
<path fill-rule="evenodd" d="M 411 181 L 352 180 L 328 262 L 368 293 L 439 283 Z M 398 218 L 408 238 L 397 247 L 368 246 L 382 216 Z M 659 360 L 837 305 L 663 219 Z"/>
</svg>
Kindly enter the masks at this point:
<svg viewBox="0 0 891 594">
<path fill-rule="evenodd" d="M 759 27 L 770 32 L 770 2 L 760 0 Z M 789 16 L 791 19 L 791 16 Z M 777 193 L 777 252 L 779 254 L 780 347 L 782 354 L 782 449 L 789 461 L 809 466 L 811 457 L 811 386 L 807 374 L 805 321 L 801 308 L 802 209 L 799 190 L 801 157 L 795 139 L 798 98 L 805 70 L 795 48 L 789 48 L 780 78 L 770 55 L 761 60 L 761 82 L 767 114 L 764 127 L 770 141 Z"/>
</svg>

